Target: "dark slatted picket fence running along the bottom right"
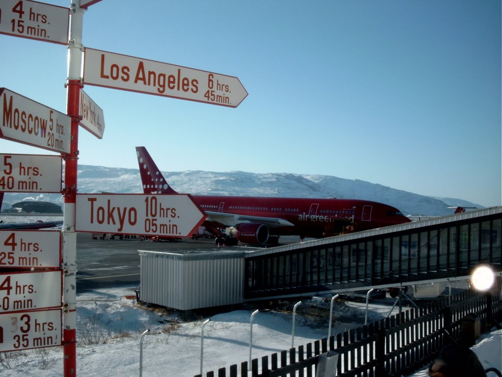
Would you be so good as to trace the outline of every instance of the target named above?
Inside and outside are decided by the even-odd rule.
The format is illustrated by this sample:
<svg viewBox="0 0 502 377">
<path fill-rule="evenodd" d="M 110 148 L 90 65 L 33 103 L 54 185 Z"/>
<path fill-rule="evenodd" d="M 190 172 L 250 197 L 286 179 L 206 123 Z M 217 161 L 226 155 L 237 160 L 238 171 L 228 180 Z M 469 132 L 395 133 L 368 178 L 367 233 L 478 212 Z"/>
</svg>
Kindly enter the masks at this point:
<svg viewBox="0 0 502 377">
<path fill-rule="evenodd" d="M 320 355 L 325 356 L 328 351 L 338 355 L 336 375 L 398 377 L 428 365 L 445 344 L 473 342 L 472 332 L 482 333 L 493 326 L 500 328 L 502 298 L 498 293 L 477 295 L 465 291 L 452 296 L 449 305 L 447 300 L 440 298 L 434 304 L 412 308 L 330 339 L 274 353 L 270 358 L 253 359 L 250 371 L 244 361 L 240 368 L 234 364 L 228 371 L 226 368 L 217 373 L 209 371 L 206 377 L 314 377 Z"/>
</svg>

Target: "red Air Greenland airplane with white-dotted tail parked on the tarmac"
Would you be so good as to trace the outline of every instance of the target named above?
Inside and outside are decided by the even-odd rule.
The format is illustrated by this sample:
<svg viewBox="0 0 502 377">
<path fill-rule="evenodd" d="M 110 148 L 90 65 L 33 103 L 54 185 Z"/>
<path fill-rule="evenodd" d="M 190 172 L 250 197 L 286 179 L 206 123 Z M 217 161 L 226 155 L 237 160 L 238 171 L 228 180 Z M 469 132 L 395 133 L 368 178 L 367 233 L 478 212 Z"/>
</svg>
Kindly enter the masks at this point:
<svg viewBox="0 0 502 377">
<path fill-rule="evenodd" d="M 145 194 L 177 194 L 145 147 L 136 147 Z M 321 238 L 410 222 L 396 208 L 355 199 L 192 195 L 217 244 L 277 244 L 279 236 Z"/>
</svg>

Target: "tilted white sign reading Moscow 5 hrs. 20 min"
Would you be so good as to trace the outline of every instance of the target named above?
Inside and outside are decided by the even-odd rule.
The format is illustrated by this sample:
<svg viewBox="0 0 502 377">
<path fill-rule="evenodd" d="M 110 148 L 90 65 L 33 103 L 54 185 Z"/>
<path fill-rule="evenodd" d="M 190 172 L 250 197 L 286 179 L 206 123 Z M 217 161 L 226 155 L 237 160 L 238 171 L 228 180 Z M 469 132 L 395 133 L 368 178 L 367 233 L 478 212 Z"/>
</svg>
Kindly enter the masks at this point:
<svg viewBox="0 0 502 377">
<path fill-rule="evenodd" d="M 59 153 L 70 153 L 71 118 L 0 88 L 0 137 Z"/>
</svg>

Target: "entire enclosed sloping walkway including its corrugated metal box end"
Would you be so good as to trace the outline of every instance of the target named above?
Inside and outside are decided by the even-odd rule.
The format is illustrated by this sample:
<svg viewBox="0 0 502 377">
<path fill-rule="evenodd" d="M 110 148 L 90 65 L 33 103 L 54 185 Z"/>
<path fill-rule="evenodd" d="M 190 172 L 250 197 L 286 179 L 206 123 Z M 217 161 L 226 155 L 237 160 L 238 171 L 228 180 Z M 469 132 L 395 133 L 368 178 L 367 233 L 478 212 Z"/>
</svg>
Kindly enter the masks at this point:
<svg viewBox="0 0 502 377">
<path fill-rule="evenodd" d="M 267 249 L 142 251 L 141 300 L 180 310 L 502 272 L 502 207 Z"/>
</svg>

